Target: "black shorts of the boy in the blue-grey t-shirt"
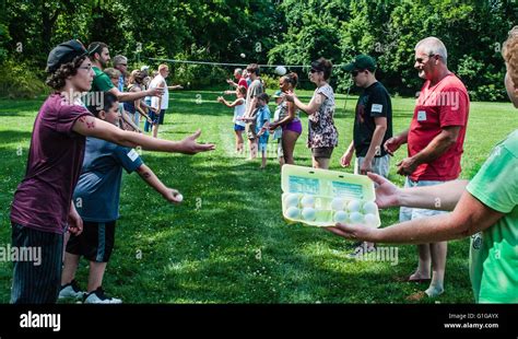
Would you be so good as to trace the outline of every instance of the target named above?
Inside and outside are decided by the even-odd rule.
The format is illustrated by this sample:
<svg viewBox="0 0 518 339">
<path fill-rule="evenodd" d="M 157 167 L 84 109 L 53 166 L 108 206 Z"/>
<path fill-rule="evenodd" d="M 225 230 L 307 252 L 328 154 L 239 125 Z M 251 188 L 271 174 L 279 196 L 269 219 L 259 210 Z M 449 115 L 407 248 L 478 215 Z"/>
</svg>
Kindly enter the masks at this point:
<svg viewBox="0 0 518 339">
<path fill-rule="evenodd" d="M 70 235 L 67 253 L 83 256 L 90 261 L 108 262 L 115 243 L 115 221 L 83 221 L 83 232 Z"/>
</svg>

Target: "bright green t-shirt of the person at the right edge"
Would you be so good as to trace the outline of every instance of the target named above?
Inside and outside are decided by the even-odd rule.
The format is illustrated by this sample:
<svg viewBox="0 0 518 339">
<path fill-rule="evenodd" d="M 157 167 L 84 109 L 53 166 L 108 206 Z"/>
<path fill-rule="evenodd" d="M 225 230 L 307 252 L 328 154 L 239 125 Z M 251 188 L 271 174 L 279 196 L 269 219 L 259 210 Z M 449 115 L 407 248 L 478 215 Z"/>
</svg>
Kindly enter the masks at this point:
<svg viewBox="0 0 518 339">
<path fill-rule="evenodd" d="M 518 303 L 518 130 L 497 144 L 467 187 L 505 213 L 471 236 L 470 276 L 478 303 Z"/>
</svg>

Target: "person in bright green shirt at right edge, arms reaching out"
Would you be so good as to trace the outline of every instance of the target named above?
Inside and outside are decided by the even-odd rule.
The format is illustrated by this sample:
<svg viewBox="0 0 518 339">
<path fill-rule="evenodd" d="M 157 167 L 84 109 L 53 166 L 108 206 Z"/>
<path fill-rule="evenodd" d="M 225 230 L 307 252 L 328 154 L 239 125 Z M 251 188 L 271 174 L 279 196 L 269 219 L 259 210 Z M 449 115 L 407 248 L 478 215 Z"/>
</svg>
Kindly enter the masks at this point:
<svg viewBox="0 0 518 339">
<path fill-rule="evenodd" d="M 504 43 L 505 86 L 518 108 L 518 26 Z M 498 143 L 471 182 L 398 188 L 373 173 L 380 208 L 407 206 L 450 210 L 385 229 L 337 224 L 349 239 L 423 244 L 471 236 L 470 277 L 478 303 L 518 303 L 518 129 Z"/>
</svg>

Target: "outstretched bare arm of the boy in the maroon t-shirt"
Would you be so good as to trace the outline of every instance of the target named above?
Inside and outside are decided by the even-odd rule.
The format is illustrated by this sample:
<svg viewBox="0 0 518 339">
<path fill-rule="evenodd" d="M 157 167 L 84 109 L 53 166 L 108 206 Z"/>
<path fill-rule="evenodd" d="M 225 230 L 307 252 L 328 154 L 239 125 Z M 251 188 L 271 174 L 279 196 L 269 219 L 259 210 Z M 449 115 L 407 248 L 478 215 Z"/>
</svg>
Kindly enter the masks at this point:
<svg viewBox="0 0 518 339">
<path fill-rule="evenodd" d="M 213 144 L 200 144 L 196 142 L 196 139 L 201 135 L 201 130 L 198 130 L 181 141 L 169 141 L 125 131 L 93 116 L 79 118 L 72 129 L 76 133 L 85 137 L 95 137 L 128 148 L 140 145 L 142 149 L 150 151 L 196 154 L 215 149 Z"/>
</svg>

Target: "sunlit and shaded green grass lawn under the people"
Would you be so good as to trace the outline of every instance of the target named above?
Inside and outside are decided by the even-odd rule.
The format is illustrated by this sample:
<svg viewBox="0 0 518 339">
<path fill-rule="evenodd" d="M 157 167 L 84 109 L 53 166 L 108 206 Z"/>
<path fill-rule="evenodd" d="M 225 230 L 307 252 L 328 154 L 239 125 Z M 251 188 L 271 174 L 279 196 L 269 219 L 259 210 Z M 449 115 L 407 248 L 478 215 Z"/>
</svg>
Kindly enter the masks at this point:
<svg viewBox="0 0 518 339">
<path fill-rule="evenodd" d="M 270 93 L 271 91 L 269 91 Z M 310 92 L 299 92 L 308 101 Z M 186 156 L 143 152 L 144 162 L 169 187 L 184 194 L 170 206 L 137 174 L 125 174 L 116 249 L 104 288 L 126 303 L 405 303 L 426 284 L 396 282 L 416 265 L 415 246 L 398 246 L 399 262 L 348 259 L 353 244 L 328 232 L 287 225 L 281 214 L 280 168 L 274 157 L 259 171 L 233 152 L 233 112 L 215 102 L 220 92 L 174 92 L 160 137 L 181 139 L 203 130 L 211 153 Z M 352 138 L 356 97 L 337 102 L 340 144 L 331 170 L 344 171 L 339 159 Z M 201 100 L 201 102 L 200 102 Z M 44 98 L 0 100 L 0 246 L 11 242 L 10 203 L 25 173 L 34 117 Z M 392 101 L 393 130 L 410 125 L 414 101 Z M 273 106 L 271 106 L 273 108 Z M 273 109 L 272 109 L 273 112 Z M 305 148 L 307 118 L 295 159 L 310 166 Z M 518 127 L 508 103 L 472 103 L 462 157 L 462 177 L 471 177 L 496 142 Z M 402 184 L 391 163 L 390 177 Z M 346 170 L 351 172 L 351 170 Z M 48 201 L 52 203 L 52 201 Z M 398 210 L 381 213 L 382 225 L 397 222 Z M 449 243 L 446 292 L 423 303 L 471 303 L 469 241 Z M 0 262 L 0 303 L 8 303 L 12 265 Z M 87 262 L 78 279 L 85 287 Z"/>
</svg>

